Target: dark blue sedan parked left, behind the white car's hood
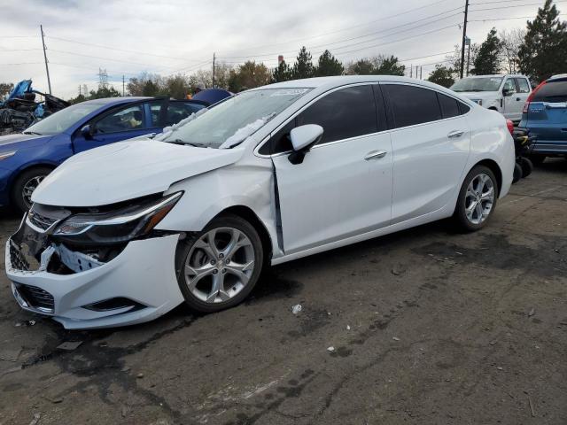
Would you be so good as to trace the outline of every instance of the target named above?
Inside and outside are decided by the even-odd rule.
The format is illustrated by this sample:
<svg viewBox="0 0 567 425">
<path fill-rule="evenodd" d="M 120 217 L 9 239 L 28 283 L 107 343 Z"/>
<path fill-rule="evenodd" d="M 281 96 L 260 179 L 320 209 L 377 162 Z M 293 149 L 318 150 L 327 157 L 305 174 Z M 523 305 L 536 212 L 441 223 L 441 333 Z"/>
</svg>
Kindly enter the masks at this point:
<svg viewBox="0 0 567 425">
<path fill-rule="evenodd" d="M 22 134 L 0 136 L 0 205 L 27 211 L 34 189 L 66 158 L 108 143 L 160 133 L 208 104 L 153 97 L 89 100 L 55 112 Z"/>
</svg>

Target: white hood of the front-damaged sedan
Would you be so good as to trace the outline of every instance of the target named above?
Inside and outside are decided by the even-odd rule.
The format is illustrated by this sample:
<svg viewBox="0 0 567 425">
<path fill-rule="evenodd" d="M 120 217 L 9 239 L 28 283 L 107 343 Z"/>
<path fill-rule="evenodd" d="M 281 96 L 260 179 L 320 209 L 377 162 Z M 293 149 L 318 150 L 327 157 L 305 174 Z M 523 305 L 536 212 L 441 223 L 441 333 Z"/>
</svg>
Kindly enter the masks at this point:
<svg viewBox="0 0 567 425">
<path fill-rule="evenodd" d="M 44 205 L 98 206 L 167 190 L 174 182 L 233 164 L 243 149 L 206 149 L 131 140 L 67 159 L 35 189 Z"/>
</svg>

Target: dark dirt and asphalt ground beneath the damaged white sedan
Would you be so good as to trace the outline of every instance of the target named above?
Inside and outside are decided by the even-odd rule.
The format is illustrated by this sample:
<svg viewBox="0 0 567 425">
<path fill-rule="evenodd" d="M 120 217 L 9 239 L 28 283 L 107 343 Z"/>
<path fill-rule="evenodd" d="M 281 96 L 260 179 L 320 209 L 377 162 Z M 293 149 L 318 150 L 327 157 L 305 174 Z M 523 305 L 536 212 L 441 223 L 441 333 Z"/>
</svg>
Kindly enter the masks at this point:
<svg viewBox="0 0 567 425">
<path fill-rule="evenodd" d="M 66 331 L 3 273 L 0 424 L 567 423 L 566 212 L 558 159 L 476 234 L 358 243 L 273 267 L 237 308 L 132 328 Z"/>
</svg>

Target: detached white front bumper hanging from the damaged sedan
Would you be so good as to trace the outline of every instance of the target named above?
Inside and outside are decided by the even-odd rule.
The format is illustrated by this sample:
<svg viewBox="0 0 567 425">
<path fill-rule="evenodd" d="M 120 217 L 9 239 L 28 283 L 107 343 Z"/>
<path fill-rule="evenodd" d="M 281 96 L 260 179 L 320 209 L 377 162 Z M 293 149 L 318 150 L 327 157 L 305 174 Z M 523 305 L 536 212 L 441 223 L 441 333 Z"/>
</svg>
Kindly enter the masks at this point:
<svg viewBox="0 0 567 425">
<path fill-rule="evenodd" d="M 50 315 L 67 329 L 132 325 L 183 302 L 175 277 L 178 239 L 170 235 L 132 241 L 109 262 L 73 274 L 54 274 L 45 267 L 19 270 L 9 240 L 6 274 L 22 308 Z"/>
</svg>

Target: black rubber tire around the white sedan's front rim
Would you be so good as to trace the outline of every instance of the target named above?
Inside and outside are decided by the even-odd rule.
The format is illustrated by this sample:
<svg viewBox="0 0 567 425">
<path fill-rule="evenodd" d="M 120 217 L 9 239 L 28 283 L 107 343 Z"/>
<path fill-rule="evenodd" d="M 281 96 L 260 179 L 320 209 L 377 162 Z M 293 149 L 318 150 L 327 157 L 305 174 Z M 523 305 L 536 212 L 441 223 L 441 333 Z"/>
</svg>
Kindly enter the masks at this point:
<svg viewBox="0 0 567 425">
<path fill-rule="evenodd" d="M 197 243 L 202 236 L 205 236 L 207 232 L 213 230 L 214 228 L 235 228 L 244 233 L 252 243 L 254 268 L 248 282 L 245 283 L 245 286 L 242 288 L 242 290 L 240 290 L 232 298 L 229 298 L 226 301 L 207 303 L 206 301 L 199 299 L 193 293 L 191 293 L 186 281 L 184 270 L 187 257 L 190 254 L 193 245 Z M 175 271 L 177 274 L 177 282 L 179 283 L 179 288 L 182 291 L 183 298 L 185 298 L 185 303 L 189 305 L 191 309 L 200 313 L 219 312 L 221 310 L 225 310 L 227 308 L 240 304 L 250 294 L 250 292 L 258 282 L 262 271 L 262 266 L 264 264 L 263 257 L 264 251 L 260 236 L 258 235 L 256 229 L 252 226 L 252 224 L 234 214 L 226 214 L 217 217 L 216 219 L 212 220 L 201 232 L 191 234 L 185 240 L 180 241 L 179 245 L 177 246 L 177 252 L 175 254 Z"/>
</svg>

